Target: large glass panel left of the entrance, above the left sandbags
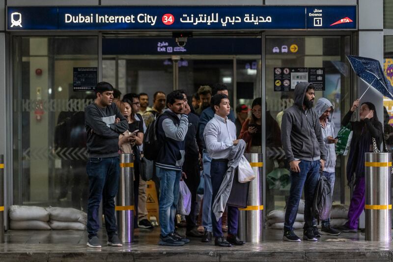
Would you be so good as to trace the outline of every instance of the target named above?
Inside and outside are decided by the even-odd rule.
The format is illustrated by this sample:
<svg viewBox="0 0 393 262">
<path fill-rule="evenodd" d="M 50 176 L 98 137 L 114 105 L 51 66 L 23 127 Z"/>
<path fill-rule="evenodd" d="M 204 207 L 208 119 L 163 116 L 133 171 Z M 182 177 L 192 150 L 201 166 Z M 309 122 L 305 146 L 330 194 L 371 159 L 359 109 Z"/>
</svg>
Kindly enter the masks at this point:
<svg viewBox="0 0 393 262">
<path fill-rule="evenodd" d="M 13 50 L 13 204 L 86 210 L 83 111 L 94 95 L 74 91 L 73 71 L 97 68 L 98 38 L 15 36 Z"/>
</svg>

